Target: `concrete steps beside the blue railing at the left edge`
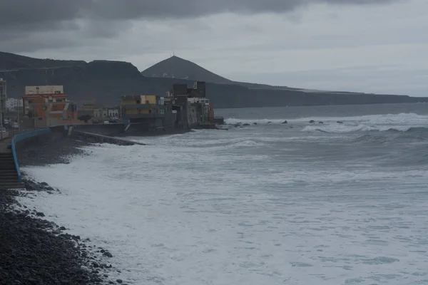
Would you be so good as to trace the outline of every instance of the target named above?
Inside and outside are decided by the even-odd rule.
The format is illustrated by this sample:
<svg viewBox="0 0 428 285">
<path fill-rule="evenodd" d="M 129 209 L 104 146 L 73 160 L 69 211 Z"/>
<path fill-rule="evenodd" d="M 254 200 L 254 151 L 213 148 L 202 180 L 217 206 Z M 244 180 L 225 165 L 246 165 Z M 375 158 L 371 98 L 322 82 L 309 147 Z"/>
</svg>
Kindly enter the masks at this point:
<svg viewBox="0 0 428 285">
<path fill-rule="evenodd" d="M 22 188 L 24 183 L 19 181 L 12 152 L 0 152 L 0 190 Z"/>
</svg>

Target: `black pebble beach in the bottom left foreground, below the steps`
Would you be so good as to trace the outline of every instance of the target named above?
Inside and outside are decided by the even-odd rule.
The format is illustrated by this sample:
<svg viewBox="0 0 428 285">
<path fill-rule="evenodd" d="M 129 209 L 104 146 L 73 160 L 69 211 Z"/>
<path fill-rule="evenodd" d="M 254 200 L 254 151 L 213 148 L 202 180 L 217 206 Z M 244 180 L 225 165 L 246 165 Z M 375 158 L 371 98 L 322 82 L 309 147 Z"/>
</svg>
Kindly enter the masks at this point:
<svg viewBox="0 0 428 285">
<path fill-rule="evenodd" d="M 54 223 L 13 208 L 19 195 L 0 191 L 0 284 L 102 284 L 98 274 L 82 269 L 89 263 L 81 246 L 49 232 Z"/>
</svg>

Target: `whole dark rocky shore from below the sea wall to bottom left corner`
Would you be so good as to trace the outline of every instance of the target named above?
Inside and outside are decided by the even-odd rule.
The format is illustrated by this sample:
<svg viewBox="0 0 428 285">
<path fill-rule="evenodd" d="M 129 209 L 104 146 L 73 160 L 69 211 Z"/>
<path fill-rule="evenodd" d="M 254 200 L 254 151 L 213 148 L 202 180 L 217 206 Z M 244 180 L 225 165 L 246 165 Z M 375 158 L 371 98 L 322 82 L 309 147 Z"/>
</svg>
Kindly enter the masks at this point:
<svg viewBox="0 0 428 285">
<path fill-rule="evenodd" d="M 39 146 L 37 152 L 26 150 L 21 165 L 68 163 L 72 155 L 87 154 L 76 147 L 86 142 L 64 139 Z M 44 219 L 44 213 L 20 204 L 17 197 L 61 195 L 45 182 L 25 177 L 26 191 L 0 192 L 0 285 L 18 284 L 123 284 L 108 280 L 115 270 L 108 263 L 107 250 L 93 247 L 88 239 L 66 233 L 66 228 Z"/>
</svg>

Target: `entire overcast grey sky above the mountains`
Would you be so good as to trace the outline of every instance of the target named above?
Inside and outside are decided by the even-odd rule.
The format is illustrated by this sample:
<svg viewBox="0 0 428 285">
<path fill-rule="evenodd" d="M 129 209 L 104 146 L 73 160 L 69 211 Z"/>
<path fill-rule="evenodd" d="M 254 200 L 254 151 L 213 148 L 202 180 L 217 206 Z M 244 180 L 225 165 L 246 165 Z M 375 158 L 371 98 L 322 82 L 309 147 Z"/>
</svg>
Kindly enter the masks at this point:
<svg viewBox="0 0 428 285">
<path fill-rule="evenodd" d="M 0 51 L 428 96 L 428 0 L 0 0 Z"/>
</svg>

